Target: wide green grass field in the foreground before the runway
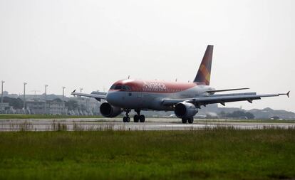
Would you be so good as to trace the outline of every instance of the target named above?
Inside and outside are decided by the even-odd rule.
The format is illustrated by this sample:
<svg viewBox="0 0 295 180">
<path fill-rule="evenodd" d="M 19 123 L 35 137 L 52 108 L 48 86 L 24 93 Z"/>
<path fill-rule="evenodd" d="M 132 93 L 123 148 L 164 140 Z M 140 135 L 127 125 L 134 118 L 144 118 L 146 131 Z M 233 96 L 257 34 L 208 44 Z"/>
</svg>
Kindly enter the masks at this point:
<svg viewBox="0 0 295 180">
<path fill-rule="evenodd" d="M 0 179 L 294 178 L 294 129 L 0 132 Z"/>
</svg>

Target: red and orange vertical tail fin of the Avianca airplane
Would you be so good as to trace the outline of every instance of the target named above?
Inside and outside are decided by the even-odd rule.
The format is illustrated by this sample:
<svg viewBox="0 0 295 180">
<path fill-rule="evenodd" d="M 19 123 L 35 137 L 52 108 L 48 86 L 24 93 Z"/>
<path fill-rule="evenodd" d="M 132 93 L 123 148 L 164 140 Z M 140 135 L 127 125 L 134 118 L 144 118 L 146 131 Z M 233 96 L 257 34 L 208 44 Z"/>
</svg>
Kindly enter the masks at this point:
<svg viewBox="0 0 295 180">
<path fill-rule="evenodd" d="M 197 71 L 196 78 L 194 83 L 209 85 L 210 84 L 210 74 L 211 74 L 211 65 L 212 65 L 212 54 L 213 46 L 208 45 L 205 55 L 202 59 L 199 70 Z"/>
</svg>

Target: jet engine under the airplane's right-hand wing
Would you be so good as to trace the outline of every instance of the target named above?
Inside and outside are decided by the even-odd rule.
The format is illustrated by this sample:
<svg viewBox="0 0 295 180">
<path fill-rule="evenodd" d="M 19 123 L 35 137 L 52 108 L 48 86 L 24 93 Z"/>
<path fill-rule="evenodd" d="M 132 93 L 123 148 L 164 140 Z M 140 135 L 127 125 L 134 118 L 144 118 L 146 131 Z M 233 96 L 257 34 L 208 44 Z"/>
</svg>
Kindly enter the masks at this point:
<svg viewBox="0 0 295 180">
<path fill-rule="evenodd" d="M 174 112 L 177 117 L 187 119 L 196 115 L 198 110 L 195 105 L 190 102 L 180 102 L 175 105 Z"/>
</svg>

